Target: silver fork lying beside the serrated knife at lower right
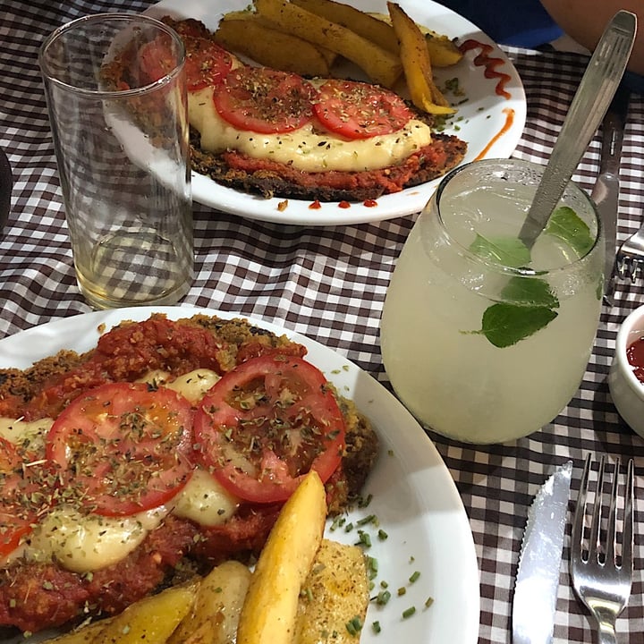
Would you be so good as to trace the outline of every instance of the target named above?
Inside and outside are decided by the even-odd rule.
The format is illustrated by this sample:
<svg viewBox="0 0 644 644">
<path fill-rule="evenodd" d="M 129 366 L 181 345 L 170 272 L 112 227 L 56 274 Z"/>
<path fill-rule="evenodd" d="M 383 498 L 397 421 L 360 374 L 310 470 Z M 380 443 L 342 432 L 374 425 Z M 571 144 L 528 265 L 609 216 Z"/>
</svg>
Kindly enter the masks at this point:
<svg viewBox="0 0 644 644">
<path fill-rule="evenodd" d="M 602 529 L 602 496 L 605 459 L 597 470 L 597 487 L 592 521 L 586 530 L 586 504 L 589 492 L 590 456 L 586 459 L 580 493 L 572 522 L 570 572 L 572 585 L 581 601 L 597 620 L 599 644 L 615 644 L 615 621 L 622 613 L 632 582 L 633 550 L 633 462 L 628 463 L 624 484 L 621 547 L 617 540 L 619 459 L 615 462 L 606 528 Z M 588 538 L 587 537 L 588 534 Z M 617 550 L 621 550 L 618 554 Z"/>
</svg>

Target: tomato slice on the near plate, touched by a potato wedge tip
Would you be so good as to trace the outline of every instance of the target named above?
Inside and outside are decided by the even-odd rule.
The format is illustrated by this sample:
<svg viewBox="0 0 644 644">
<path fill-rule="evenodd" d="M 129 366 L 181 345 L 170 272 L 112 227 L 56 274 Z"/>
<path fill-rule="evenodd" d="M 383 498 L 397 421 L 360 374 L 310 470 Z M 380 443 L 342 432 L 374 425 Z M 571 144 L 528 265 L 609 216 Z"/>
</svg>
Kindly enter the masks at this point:
<svg viewBox="0 0 644 644">
<path fill-rule="evenodd" d="M 195 415 L 197 458 L 233 495 L 285 501 L 309 470 L 326 481 L 344 447 L 344 419 L 324 375 L 267 354 L 225 374 Z"/>
</svg>

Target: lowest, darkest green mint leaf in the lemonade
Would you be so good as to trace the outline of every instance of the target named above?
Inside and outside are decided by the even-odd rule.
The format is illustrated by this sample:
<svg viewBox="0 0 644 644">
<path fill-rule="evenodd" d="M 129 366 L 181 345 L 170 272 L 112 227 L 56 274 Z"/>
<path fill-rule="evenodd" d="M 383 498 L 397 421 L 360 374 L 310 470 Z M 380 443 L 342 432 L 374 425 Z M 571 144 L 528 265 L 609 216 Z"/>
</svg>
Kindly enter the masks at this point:
<svg viewBox="0 0 644 644">
<path fill-rule="evenodd" d="M 536 333 L 557 317 L 557 312 L 545 306 L 525 307 L 497 303 L 483 313 L 479 333 L 496 347 L 503 349 Z"/>
</svg>

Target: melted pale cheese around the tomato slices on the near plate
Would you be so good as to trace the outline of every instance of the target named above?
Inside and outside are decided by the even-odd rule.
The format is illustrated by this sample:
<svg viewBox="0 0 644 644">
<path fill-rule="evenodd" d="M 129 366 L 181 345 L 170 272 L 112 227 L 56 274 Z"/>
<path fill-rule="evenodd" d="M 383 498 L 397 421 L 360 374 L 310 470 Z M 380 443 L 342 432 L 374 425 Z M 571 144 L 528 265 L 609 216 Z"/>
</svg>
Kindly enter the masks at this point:
<svg viewBox="0 0 644 644">
<path fill-rule="evenodd" d="M 169 382 L 166 382 L 167 377 L 165 372 L 155 371 L 142 381 L 174 389 L 193 404 L 199 402 L 219 379 L 209 369 L 197 369 Z M 52 419 L 25 422 L 0 418 L 0 436 L 14 444 L 29 440 L 36 446 L 44 442 L 53 422 Z M 237 507 L 238 500 L 234 496 L 207 471 L 197 469 L 171 504 L 147 512 L 106 517 L 80 513 L 72 507 L 56 508 L 38 523 L 20 547 L 0 561 L 0 566 L 24 557 L 35 562 L 56 561 L 72 572 L 92 572 L 123 560 L 169 513 L 211 527 L 224 523 Z"/>
</svg>

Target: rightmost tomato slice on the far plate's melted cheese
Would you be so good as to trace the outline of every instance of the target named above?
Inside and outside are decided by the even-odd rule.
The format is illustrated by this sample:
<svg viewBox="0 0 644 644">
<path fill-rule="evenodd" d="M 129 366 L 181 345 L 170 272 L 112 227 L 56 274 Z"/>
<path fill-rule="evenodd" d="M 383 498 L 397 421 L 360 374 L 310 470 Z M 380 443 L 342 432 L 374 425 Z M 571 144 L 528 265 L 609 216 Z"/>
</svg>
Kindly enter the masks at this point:
<svg viewBox="0 0 644 644">
<path fill-rule="evenodd" d="M 353 80 L 326 80 L 313 109 L 327 130 L 347 139 L 391 134 L 412 117 L 411 109 L 394 92 Z"/>
</svg>

